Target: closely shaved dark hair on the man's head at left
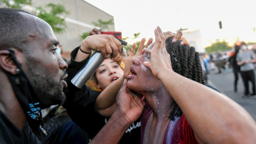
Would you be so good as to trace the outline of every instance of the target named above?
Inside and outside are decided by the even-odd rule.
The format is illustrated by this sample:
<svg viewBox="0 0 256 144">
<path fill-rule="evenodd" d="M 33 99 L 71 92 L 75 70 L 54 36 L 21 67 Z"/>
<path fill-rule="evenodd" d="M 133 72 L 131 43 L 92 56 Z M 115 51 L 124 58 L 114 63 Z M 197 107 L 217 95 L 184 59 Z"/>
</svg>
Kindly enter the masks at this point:
<svg viewBox="0 0 256 144">
<path fill-rule="evenodd" d="M 0 8 L 0 50 L 13 47 L 25 51 L 27 36 L 33 31 L 32 20 L 24 17 L 21 10 Z M 31 14 L 33 15 L 33 14 Z"/>
</svg>

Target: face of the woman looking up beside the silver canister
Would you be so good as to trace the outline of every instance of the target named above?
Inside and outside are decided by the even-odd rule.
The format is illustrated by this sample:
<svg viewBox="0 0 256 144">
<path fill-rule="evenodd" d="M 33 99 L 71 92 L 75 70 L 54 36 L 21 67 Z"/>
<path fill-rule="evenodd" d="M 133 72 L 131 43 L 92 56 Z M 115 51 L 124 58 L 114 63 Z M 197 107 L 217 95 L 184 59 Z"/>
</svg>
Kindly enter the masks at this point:
<svg viewBox="0 0 256 144">
<path fill-rule="evenodd" d="M 104 60 L 95 73 L 98 79 L 98 86 L 102 90 L 124 75 L 123 69 L 111 59 Z"/>
</svg>

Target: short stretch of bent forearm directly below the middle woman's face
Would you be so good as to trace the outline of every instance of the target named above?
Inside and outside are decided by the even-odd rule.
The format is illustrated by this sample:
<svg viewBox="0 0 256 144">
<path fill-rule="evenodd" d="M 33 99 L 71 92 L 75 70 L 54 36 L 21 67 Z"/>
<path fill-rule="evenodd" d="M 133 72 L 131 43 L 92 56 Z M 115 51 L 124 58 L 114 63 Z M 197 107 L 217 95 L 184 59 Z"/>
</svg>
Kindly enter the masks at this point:
<svg viewBox="0 0 256 144">
<path fill-rule="evenodd" d="M 104 89 L 95 102 L 95 109 L 105 109 L 112 106 L 116 102 L 116 95 L 124 82 L 124 77 L 118 78 Z"/>
</svg>

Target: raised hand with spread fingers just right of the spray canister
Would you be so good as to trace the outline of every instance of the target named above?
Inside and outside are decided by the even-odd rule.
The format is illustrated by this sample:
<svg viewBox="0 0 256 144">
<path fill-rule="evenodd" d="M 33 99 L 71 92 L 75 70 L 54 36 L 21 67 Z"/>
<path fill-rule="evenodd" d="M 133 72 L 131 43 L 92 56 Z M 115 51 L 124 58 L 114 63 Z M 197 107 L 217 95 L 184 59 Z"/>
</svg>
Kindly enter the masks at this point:
<svg viewBox="0 0 256 144">
<path fill-rule="evenodd" d="M 145 41 L 146 41 L 145 38 L 141 39 L 140 45 L 139 45 L 138 50 L 137 50 L 136 53 L 135 53 L 136 44 L 134 43 L 132 45 L 130 55 L 126 59 L 125 65 L 124 65 L 124 78 L 126 78 L 130 74 L 130 67 L 132 66 L 132 59 L 137 58 L 137 57 L 139 57 L 140 55 L 142 55 L 144 53 L 143 46 L 145 44 Z M 152 42 L 153 42 L 153 38 L 149 38 L 145 47 L 148 47 Z"/>
</svg>

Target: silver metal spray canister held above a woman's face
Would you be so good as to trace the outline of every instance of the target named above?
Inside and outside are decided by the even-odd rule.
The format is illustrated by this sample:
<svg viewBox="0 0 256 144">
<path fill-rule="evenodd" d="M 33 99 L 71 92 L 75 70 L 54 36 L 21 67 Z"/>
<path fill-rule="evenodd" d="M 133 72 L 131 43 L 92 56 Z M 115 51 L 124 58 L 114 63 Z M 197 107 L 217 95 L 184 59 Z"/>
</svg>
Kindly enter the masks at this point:
<svg viewBox="0 0 256 144">
<path fill-rule="evenodd" d="M 117 38 L 118 39 L 118 38 Z M 127 45 L 127 42 L 118 39 L 122 45 Z M 113 52 L 110 55 L 110 58 L 113 57 Z M 88 79 L 93 75 L 101 63 L 105 60 L 101 52 L 95 51 L 85 65 L 76 73 L 76 75 L 71 79 L 76 87 L 81 89 L 83 85 L 88 81 Z"/>
</svg>

